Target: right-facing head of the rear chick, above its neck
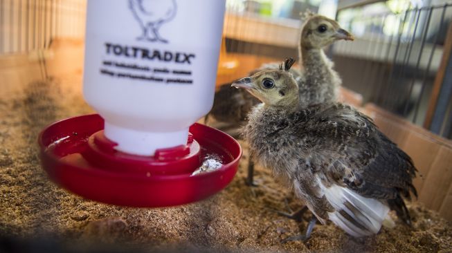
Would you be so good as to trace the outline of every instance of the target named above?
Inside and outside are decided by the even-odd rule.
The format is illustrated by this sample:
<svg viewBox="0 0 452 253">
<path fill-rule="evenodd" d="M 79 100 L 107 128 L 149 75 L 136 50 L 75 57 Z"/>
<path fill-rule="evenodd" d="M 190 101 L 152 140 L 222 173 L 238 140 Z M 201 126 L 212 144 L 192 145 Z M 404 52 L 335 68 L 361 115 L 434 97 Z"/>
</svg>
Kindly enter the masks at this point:
<svg viewBox="0 0 452 253">
<path fill-rule="evenodd" d="M 340 39 L 354 40 L 354 37 L 333 19 L 312 15 L 302 28 L 300 44 L 306 48 L 323 48 Z"/>
</svg>

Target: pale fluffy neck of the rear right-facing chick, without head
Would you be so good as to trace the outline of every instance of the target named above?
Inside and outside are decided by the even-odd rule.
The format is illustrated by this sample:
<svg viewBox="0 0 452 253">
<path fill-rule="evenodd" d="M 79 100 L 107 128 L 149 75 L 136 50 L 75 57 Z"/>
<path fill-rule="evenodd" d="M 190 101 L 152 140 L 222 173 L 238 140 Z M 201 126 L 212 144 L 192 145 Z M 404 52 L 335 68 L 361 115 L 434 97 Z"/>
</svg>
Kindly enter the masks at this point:
<svg viewBox="0 0 452 253">
<path fill-rule="evenodd" d="M 300 86 L 302 100 L 307 104 L 336 100 L 336 88 L 341 79 L 323 49 L 301 46 L 300 53 L 305 77 L 305 83 Z"/>
</svg>

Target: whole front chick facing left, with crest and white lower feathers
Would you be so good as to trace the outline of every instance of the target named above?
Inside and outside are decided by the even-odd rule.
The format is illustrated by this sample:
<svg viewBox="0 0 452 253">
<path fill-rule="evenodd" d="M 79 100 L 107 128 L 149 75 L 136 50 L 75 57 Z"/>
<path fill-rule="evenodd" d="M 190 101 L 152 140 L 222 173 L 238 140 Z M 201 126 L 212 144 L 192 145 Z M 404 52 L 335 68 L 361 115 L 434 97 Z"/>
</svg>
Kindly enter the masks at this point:
<svg viewBox="0 0 452 253">
<path fill-rule="evenodd" d="M 394 225 L 390 209 L 410 224 L 402 199 L 416 196 L 410 157 L 351 106 L 300 104 L 291 64 L 233 84 L 262 101 L 244 129 L 251 155 L 286 178 L 323 224 L 330 220 L 352 236 L 370 236 Z M 299 238 L 309 238 L 314 224 Z"/>
</svg>

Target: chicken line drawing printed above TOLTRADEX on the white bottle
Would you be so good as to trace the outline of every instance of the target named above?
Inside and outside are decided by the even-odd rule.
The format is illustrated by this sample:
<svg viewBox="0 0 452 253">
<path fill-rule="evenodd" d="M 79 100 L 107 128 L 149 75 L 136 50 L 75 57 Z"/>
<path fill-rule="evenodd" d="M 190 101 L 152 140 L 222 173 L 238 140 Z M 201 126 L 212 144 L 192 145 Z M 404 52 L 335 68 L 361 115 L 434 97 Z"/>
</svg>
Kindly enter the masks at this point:
<svg viewBox="0 0 452 253">
<path fill-rule="evenodd" d="M 143 29 L 138 39 L 168 43 L 160 36 L 159 29 L 176 15 L 176 0 L 129 0 L 129 8 Z"/>
</svg>

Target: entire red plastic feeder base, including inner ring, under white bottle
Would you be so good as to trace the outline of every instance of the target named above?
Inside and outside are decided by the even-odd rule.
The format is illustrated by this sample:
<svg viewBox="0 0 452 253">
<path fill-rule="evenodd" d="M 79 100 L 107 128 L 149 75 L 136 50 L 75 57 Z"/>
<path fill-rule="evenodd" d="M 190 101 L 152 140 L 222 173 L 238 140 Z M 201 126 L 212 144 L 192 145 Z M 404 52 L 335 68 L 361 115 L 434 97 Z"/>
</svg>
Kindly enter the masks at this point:
<svg viewBox="0 0 452 253">
<path fill-rule="evenodd" d="M 55 122 L 39 135 L 42 167 L 58 185 L 113 205 L 168 207 L 202 200 L 224 189 L 237 172 L 242 149 L 226 133 L 193 124 L 186 146 L 161 149 L 153 157 L 116 151 L 103 135 L 100 115 Z M 191 176 L 202 159 L 223 166 Z"/>
</svg>

